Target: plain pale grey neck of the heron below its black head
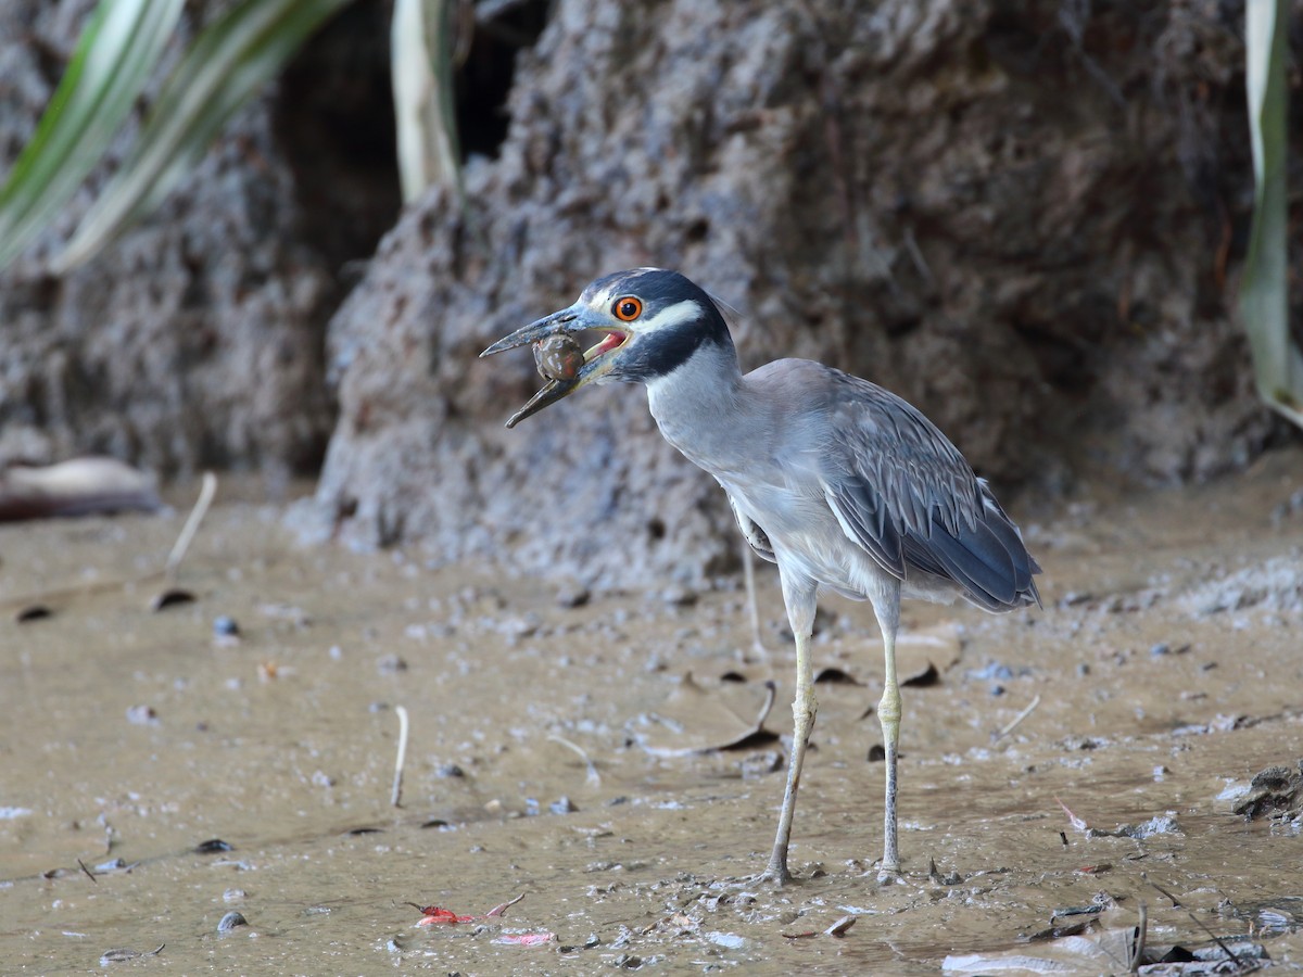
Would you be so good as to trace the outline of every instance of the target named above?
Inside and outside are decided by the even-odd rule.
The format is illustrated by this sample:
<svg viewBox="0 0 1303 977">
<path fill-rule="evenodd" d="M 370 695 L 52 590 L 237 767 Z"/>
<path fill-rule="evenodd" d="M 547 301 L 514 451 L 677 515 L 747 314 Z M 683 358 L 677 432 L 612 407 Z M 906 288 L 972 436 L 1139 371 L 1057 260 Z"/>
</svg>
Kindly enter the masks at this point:
<svg viewBox="0 0 1303 977">
<path fill-rule="evenodd" d="M 665 376 L 646 382 L 648 406 L 665 439 L 688 460 L 717 473 L 737 449 L 734 422 L 744 405 L 732 344 L 708 343 Z"/>
</svg>

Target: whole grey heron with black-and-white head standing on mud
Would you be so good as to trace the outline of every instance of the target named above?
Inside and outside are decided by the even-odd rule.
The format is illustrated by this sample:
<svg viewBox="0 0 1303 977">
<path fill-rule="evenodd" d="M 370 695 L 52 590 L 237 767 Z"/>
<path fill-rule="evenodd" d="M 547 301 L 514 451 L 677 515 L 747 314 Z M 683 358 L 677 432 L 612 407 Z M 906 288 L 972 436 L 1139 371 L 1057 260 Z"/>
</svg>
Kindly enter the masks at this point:
<svg viewBox="0 0 1303 977">
<path fill-rule="evenodd" d="M 778 564 L 796 636 L 795 729 L 778 838 L 766 874 L 786 882 L 805 745 L 814 724 L 810 630 L 820 586 L 873 603 L 885 675 L 883 874 L 896 873 L 900 598 L 962 597 L 1002 612 L 1040 603 L 1040 572 L 986 482 L 928 418 L 868 380 L 808 360 L 743 375 L 728 327 L 701 288 L 675 271 L 598 279 L 568 309 L 494 343 L 482 356 L 554 336 L 605 337 L 573 357 L 507 426 L 589 383 L 644 383 L 665 439 L 723 486 L 737 525 Z"/>
</svg>

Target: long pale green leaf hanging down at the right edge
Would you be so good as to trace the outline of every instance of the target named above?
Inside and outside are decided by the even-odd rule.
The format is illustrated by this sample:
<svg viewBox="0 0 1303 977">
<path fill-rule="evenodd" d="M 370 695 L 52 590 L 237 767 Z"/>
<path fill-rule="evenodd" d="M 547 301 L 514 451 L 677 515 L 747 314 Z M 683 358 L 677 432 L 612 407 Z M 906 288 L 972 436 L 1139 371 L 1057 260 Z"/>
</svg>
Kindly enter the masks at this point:
<svg viewBox="0 0 1303 977">
<path fill-rule="evenodd" d="M 1253 353 L 1259 396 L 1303 426 L 1303 354 L 1290 337 L 1286 60 L 1289 0 L 1248 0 L 1246 89 L 1253 146 L 1253 227 L 1239 310 Z"/>
</svg>

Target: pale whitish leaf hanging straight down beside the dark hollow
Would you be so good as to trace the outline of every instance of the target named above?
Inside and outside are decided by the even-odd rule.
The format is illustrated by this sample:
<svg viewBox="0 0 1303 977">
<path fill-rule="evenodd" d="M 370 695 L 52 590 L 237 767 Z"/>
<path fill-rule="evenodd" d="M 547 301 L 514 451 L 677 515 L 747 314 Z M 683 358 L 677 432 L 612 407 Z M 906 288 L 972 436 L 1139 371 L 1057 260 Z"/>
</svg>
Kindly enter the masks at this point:
<svg viewBox="0 0 1303 977">
<path fill-rule="evenodd" d="M 447 0 L 395 0 L 390 69 L 403 199 L 461 189 Z"/>
</svg>

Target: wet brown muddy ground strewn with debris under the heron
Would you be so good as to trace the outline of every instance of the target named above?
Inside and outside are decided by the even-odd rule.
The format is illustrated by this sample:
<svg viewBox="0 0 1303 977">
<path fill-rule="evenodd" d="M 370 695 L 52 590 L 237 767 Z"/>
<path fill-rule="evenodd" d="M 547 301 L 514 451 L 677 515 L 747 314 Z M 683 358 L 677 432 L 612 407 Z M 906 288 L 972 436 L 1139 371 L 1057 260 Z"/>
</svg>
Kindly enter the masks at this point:
<svg viewBox="0 0 1303 977">
<path fill-rule="evenodd" d="M 782 890 L 749 877 L 786 743 L 683 752 L 744 732 L 769 675 L 765 728 L 790 731 L 769 567 L 764 660 L 737 580 L 582 603 L 564 580 L 430 569 L 416 548 L 301 548 L 254 486 L 223 487 L 181 571 L 197 601 L 159 612 L 184 511 L 3 528 L 3 969 L 928 973 L 1049 952 L 1025 938 L 1057 912 L 1097 918 L 1091 935 L 1141 905 L 1151 946 L 1220 954 L 1210 930 L 1298 968 L 1298 799 L 1233 809 L 1303 757 L 1300 487 L 1293 451 L 1205 488 L 1012 500 L 1044 611 L 906 608 L 903 672 L 936 680 L 904 690 L 894 883 L 873 866 L 881 650 L 866 606 L 829 599 Z M 51 615 L 20 623 L 33 604 Z M 197 852 L 210 839 L 231 851 Z M 1100 894 L 1098 917 L 1063 917 Z M 517 896 L 459 924 L 407 905 L 485 916 Z M 248 925 L 222 935 L 228 912 Z M 502 942 L 529 934 L 554 937 Z M 1124 969 L 1109 948 L 1054 952 Z"/>
</svg>

